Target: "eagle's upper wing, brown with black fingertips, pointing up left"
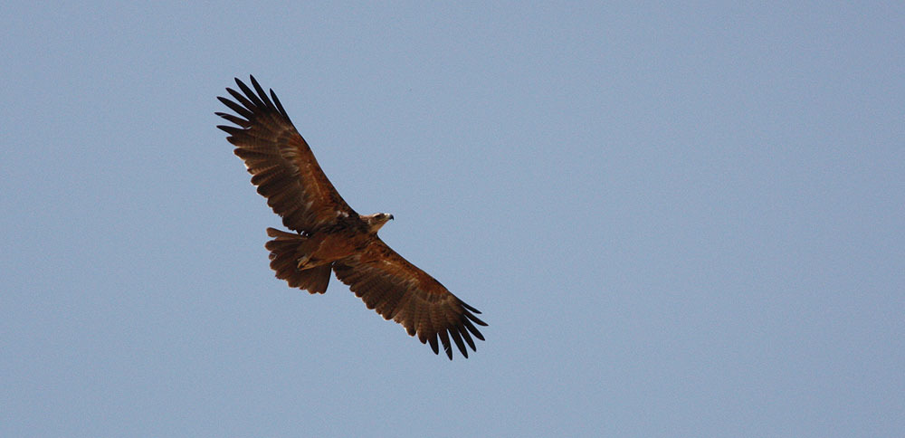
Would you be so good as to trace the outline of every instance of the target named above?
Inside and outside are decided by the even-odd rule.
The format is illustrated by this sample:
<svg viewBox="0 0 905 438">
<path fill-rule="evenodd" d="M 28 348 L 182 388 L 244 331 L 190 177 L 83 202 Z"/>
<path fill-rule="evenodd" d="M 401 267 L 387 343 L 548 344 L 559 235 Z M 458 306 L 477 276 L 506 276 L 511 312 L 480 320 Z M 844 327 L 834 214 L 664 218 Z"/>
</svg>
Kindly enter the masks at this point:
<svg viewBox="0 0 905 438">
<path fill-rule="evenodd" d="M 271 99 L 254 80 L 249 89 L 236 78 L 242 93 L 227 88 L 233 100 L 218 97 L 238 115 L 217 112 L 234 126 L 218 126 L 229 134 L 233 151 L 245 162 L 252 174 L 252 184 L 267 198 L 273 213 L 280 214 L 283 224 L 297 232 L 310 231 L 342 215 L 357 217 L 330 184 L 308 143 L 292 126 L 286 110 L 271 90 Z M 255 92 L 256 91 L 256 92 Z"/>
</svg>

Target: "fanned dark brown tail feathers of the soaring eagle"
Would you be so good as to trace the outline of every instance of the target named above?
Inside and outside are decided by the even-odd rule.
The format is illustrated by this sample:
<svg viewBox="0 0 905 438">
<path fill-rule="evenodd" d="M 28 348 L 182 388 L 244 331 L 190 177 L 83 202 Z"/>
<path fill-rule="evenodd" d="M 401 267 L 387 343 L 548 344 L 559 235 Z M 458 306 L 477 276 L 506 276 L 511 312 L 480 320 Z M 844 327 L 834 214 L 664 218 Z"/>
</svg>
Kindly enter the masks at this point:
<svg viewBox="0 0 905 438">
<path fill-rule="evenodd" d="M 299 270 L 299 259 L 305 255 L 302 250 L 305 237 L 274 228 L 268 228 L 267 235 L 275 237 L 264 244 L 264 247 L 271 252 L 271 269 L 276 271 L 278 279 L 285 280 L 291 288 L 308 290 L 310 293 L 327 291 L 333 263 Z"/>
</svg>

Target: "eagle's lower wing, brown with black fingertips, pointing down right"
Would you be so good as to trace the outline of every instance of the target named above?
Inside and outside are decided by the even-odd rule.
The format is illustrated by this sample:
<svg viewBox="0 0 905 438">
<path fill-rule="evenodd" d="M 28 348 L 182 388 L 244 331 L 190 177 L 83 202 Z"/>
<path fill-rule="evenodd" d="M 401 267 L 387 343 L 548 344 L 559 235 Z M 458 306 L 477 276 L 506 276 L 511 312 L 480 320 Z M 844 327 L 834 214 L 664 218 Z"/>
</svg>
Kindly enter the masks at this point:
<svg viewBox="0 0 905 438">
<path fill-rule="evenodd" d="M 402 324 L 410 336 L 417 334 L 422 344 L 430 342 L 435 354 L 439 354 L 438 337 L 450 360 L 450 338 L 464 357 L 468 357 L 465 344 L 475 350 L 472 335 L 484 340 L 474 327 L 487 325 L 474 316 L 481 313 L 478 309 L 456 298 L 440 281 L 406 261 L 379 238 L 364 251 L 336 262 L 333 271 L 339 281 L 348 284 L 365 301 L 368 309 L 376 309 L 384 319 Z"/>
</svg>

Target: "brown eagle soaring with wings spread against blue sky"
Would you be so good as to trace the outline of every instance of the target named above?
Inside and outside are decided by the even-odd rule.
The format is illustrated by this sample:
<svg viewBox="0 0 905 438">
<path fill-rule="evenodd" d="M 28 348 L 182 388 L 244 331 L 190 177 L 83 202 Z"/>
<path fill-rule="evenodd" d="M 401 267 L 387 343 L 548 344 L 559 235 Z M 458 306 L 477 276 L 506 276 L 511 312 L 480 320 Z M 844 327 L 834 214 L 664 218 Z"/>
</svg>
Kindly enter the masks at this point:
<svg viewBox="0 0 905 438">
<path fill-rule="evenodd" d="M 235 125 L 217 128 L 229 134 L 252 185 L 294 232 L 267 229 L 273 239 L 264 247 L 276 277 L 315 294 L 327 291 L 335 272 L 368 309 L 402 324 L 434 354 L 442 344 L 452 360 L 451 338 L 463 357 L 468 357 L 466 344 L 477 351 L 472 337 L 484 337 L 475 325 L 487 325 L 475 316 L 481 312 L 377 237 L 393 214 L 357 214 L 330 183 L 273 90 L 268 97 L 249 78 L 254 90 L 235 78 L 241 92 L 227 88 L 233 100 L 217 98 L 235 115 L 214 114 Z"/>
</svg>

